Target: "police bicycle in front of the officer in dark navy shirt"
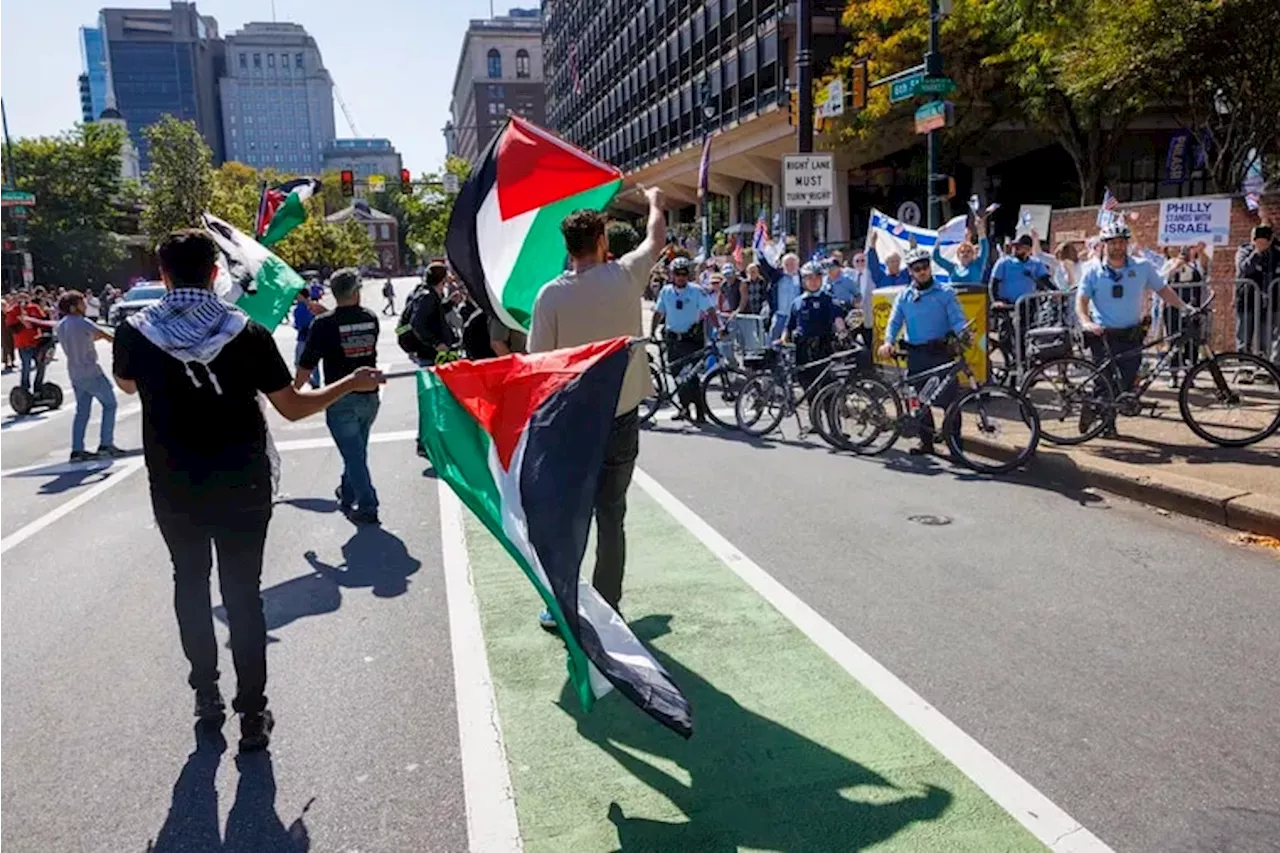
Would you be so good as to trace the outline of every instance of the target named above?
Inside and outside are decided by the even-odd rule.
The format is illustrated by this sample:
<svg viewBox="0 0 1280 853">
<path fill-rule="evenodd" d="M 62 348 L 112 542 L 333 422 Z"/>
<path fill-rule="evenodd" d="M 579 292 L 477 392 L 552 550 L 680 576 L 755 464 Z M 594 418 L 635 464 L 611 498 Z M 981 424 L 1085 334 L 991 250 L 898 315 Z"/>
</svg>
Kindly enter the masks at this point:
<svg viewBox="0 0 1280 853">
<path fill-rule="evenodd" d="M 733 407 L 739 429 L 748 435 L 763 438 L 776 430 L 787 415 L 795 415 L 801 438 L 818 433 L 824 442 L 838 448 L 840 444 L 831 434 L 831 424 L 826 420 L 829 411 L 827 401 L 841 379 L 859 370 L 863 352 L 863 346 L 854 342 L 851 348 L 797 366 L 795 345 L 777 345 L 771 350 L 772 364 L 753 374 L 739 394 Z M 814 374 L 808 384 L 797 379 L 800 371 Z M 800 420 L 800 406 L 805 403 L 809 406 L 808 428 Z"/>
</svg>

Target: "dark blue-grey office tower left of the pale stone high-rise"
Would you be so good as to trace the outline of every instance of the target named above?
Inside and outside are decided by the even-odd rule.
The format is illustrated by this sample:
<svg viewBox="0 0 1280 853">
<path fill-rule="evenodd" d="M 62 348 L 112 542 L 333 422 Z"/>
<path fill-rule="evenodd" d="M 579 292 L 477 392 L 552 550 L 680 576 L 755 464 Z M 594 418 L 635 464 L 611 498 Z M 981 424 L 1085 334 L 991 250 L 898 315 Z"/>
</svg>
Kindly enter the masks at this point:
<svg viewBox="0 0 1280 853">
<path fill-rule="evenodd" d="M 97 28 L 106 59 L 106 102 L 128 124 L 142 169 L 151 161 L 142 133 L 164 115 L 195 122 L 214 163 L 221 163 L 218 79 L 224 55 L 218 22 L 201 15 L 193 3 L 175 1 L 168 9 L 102 9 Z"/>
</svg>

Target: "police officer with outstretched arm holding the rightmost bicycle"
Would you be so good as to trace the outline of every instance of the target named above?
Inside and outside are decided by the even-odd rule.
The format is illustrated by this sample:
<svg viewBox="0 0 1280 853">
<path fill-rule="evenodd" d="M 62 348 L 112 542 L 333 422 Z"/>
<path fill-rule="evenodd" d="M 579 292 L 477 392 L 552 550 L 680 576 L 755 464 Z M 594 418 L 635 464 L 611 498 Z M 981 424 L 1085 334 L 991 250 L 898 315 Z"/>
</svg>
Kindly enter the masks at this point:
<svg viewBox="0 0 1280 853">
<path fill-rule="evenodd" d="M 1153 291 L 1166 305 L 1188 314 L 1190 306 L 1174 288 L 1160 278 L 1160 270 L 1147 260 L 1129 255 L 1129 225 L 1121 220 L 1102 228 L 1105 255 L 1101 264 L 1091 264 L 1080 278 L 1075 297 L 1075 315 L 1084 329 L 1084 342 L 1096 361 L 1114 355 L 1120 369 L 1120 388 L 1133 388 L 1142 368 L 1142 342 L 1147 337 L 1147 291 Z M 1093 423 L 1091 407 L 1080 415 L 1080 432 Z M 1107 414 L 1107 434 L 1115 434 L 1115 412 Z"/>
</svg>

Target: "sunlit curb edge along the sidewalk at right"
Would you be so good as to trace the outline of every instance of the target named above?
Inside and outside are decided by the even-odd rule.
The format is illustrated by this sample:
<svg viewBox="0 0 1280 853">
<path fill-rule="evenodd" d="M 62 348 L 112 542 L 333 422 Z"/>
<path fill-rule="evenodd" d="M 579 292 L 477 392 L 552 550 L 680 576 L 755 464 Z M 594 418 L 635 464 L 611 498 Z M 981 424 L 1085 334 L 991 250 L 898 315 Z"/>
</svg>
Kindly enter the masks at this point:
<svg viewBox="0 0 1280 853">
<path fill-rule="evenodd" d="M 1004 444 L 965 437 L 996 459 L 1009 459 Z M 1028 466 L 1032 474 L 1044 474 L 1073 485 L 1092 485 L 1121 497 L 1140 501 L 1171 512 L 1212 521 L 1224 528 L 1280 538 L 1280 497 L 1256 494 L 1189 476 L 1151 471 L 1140 465 L 1116 462 L 1094 456 L 1073 456 L 1043 442 Z"/>
</svg>

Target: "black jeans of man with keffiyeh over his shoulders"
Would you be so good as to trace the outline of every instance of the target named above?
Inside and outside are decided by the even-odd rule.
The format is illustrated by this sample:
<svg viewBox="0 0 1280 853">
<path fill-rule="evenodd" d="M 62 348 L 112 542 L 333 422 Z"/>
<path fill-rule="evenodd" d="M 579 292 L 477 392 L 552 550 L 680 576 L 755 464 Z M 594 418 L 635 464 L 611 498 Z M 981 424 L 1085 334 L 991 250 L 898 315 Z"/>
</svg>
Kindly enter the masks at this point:
<svg viewBox="0 0 1280 853">
<path fill-rule="evenodd" d="M 182 651 L 191 662 L 193 688 L 218 683 L 218 640 L 209 601 L 212 548 L 218 548 L 218 583 L 232 633 L 236 699 L 239 713 L 266 707 L 266 620 L 259 589 L 262 552 L 271 508 L 219 508 L 196 515 L 156 512 L 156 526 L 173 557 L 173 608 L 178 615 Z"/>
</svg>

